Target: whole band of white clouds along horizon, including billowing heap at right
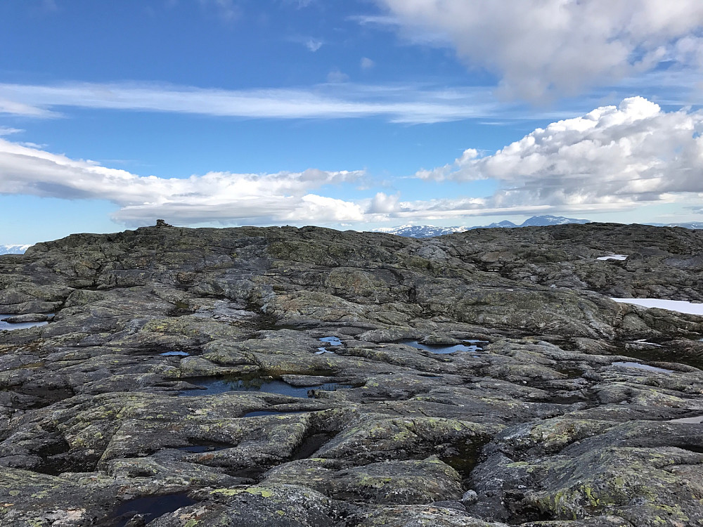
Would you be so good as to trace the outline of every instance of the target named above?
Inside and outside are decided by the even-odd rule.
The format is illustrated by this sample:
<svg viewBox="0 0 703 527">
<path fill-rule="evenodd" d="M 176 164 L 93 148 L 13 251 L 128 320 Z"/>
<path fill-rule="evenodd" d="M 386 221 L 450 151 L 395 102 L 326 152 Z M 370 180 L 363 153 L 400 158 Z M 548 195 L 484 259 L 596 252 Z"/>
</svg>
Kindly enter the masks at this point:
<svg viewBox="0 0 703 527">
<path fill-rule="evenodd" d="M 664 112 L 640 97 L 619 107 L 536 129 L 493 155 L 468 149 L 453 163 L 415 176 L 430 181 L 492 179 L 486 197 L 404 202 L 376 193 L 353 202 L 314 193 L 355 182 L 363 171 L 138 176 L 0 139 L 0 193 L 109 200 L 115 220 L 236 223 L 364 223 L 547 210 L 624 209 L 703 196 L 703 112 Z M 587 176 L 587 177 L 586 177 Z"/>
</svg>

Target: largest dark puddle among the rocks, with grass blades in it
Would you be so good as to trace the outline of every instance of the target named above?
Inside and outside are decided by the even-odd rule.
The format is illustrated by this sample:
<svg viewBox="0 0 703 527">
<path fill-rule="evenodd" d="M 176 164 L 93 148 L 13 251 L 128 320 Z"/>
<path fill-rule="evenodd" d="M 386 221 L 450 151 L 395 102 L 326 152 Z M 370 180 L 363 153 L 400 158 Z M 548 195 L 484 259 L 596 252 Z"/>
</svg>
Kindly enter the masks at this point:
<svg viewBox="0 0 703 527">
<path fill-rule="evenodd" d="M 229 391 L 259 391 L 262 393 L 277 393 L 278 395 L 290 397 L 312 398 L 312 390 L 337 391 L 338 389 L 352 388 L 349 384 L 338 384 L 336 382 L 310 386 L 292 386 L 285 381 L 270 378 L 262 379 L 261 377 L 252 377 L 250 379 L 229 377 L 214 379 L 212 377 L 205 377 L 201 379 L 189 379 L 189 382 L 202 386 L 202 388 L 179 391 L 176 395 L 198 397 L 227 393 Z"/>
</svg>

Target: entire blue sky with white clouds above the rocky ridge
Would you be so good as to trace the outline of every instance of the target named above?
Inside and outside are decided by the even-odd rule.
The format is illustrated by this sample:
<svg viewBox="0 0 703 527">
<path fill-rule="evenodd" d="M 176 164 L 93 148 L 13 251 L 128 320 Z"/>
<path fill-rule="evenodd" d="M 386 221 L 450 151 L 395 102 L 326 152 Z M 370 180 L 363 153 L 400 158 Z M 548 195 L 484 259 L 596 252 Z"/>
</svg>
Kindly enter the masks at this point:
<svg viewBox="0 0 703 527">
<path fill-rule="evenodd" d="M 700 0 L 0 0 L 0 245 L 703 221 Z"/>
</svg>

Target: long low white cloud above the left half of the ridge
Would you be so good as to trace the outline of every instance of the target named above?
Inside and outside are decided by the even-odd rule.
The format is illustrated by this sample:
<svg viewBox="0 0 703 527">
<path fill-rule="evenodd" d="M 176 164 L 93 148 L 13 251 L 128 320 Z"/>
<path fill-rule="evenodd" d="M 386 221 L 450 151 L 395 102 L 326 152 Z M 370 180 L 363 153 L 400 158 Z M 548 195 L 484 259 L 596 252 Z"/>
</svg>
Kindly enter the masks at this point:
<svg viewBox="0 0 703 527">
<path fill-rule="evenodd" d="M 0 139 L 0 194 L 109 200 L 120 206 L 115 219 L 128 225 L 148 224 L 157 217 L 180 224 L 360 221 L 363 209 L 358 204 L 312 191 L 361 176 L 361 171 L 310 169 L 278 174 L 209 172 L 184 179 L 145 177 Z"/>
</svg>

